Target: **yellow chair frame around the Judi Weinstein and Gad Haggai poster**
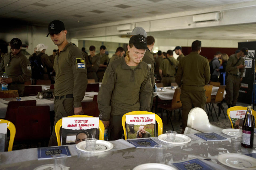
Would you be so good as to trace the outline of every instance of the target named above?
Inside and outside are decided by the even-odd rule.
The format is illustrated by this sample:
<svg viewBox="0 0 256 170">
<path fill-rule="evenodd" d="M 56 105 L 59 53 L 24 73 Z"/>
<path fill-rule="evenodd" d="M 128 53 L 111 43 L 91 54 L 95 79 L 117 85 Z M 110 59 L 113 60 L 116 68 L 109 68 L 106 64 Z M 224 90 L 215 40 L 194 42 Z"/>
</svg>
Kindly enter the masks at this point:
<svg viewBox="0 0 256 170">
<path fill-rule="evenodd" d="M 122 125 L 123 125 L 123 131 L 124 131 L 124 134 L 125 134 L 125 140 L 127 139 L 126 128 L 125 128 L 125 124 L 126 124 L 125 115 L 126 114 L 155 114 L 155 113 L 146 112 L 146 111 L 133 111 L 133 112 L 125 113 L 123 115 L 123 117 L 122 117 Z M 158 135 L 161 135 L 161 134 L 163 134 L 163 122 L 162 122 L 162 119 L 157 114 L 155 114 L 155 120 L 157 121 L 157 124 L 158 124 Z"/>
</svg>

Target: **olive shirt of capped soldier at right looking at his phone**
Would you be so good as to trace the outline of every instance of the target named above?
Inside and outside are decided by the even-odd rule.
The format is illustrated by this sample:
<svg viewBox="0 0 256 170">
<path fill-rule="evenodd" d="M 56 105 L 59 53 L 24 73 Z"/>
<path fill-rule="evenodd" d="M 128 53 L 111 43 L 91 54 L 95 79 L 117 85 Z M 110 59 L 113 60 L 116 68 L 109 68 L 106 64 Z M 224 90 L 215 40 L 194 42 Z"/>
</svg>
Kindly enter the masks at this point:
<svg viewBox="0 0 256 170">
<path fill-rule="evenodd" d="M 242 69 L 237 69 L 237 66 L 239 65 L 245 65 L 245 59 L 243 57 L 241 57 L 241 59 L 238 61 L 238 63 L 234 66 L 234 64 L 237 62 L 238 58 L 237 58 L 237 54 L 232 54 L 229 57 L 229 60 L 227 61 L 227 66 L 226 66 L 226 72 L 228 74 L 240 74 L 240 78 L 243 77 L 243 73 L 245 72 L 245 68 Z"/>
</svg>

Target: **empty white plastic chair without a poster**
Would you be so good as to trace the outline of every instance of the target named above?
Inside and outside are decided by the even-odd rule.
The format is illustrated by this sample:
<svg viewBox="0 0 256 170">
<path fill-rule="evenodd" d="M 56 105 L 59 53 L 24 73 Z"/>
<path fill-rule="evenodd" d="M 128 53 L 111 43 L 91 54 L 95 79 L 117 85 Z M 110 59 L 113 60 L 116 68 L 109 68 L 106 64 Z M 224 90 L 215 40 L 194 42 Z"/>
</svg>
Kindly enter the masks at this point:
<svg viewBox="0 0 256 170">
<path fill-rule="evenodd" d="M 210 124 L 207 113 L 199 107 L 195 107 L 189 112 L 187 117 L 187 127 L 184 134 L 187 133 L 189 128 L 201 132 L 221 132 L 222 130 L 222 128 Z"/>
</svg>

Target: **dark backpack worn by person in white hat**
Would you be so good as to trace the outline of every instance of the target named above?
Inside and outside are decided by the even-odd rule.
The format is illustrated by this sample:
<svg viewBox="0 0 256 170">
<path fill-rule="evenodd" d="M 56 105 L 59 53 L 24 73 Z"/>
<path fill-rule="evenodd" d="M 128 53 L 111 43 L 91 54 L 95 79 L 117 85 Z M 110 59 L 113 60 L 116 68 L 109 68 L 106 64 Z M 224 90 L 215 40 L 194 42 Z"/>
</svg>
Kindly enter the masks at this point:
<svg viewBox="0 0 256 170">
<path fill-rule="evenodd" d="M 32 71 L 32 79 L 42 79 L 43 78 L 43 65 L 41 63 L 41 56 L 43 53 L 40 53 L 38 56 L 33 55 L 30 58 L 31 71 Z"/>
</svg>

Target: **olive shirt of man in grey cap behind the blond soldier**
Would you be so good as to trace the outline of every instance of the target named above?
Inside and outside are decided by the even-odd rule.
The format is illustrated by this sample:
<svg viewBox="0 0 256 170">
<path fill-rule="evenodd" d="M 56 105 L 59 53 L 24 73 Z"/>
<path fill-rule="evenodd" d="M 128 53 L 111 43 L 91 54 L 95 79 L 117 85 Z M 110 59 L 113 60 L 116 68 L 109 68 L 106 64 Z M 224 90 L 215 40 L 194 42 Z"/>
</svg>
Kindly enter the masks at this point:
<svg viewBox="0 0 256 170">
<path fill-rule="evenodd" d="M 153 87 L 155 85 L 155 73 L 154 73 L 155 61 L 154 61 L 153 54 L 149 50 L 146 50 L 146 52 L 145 52 L 145 54 L 142 58 L 142 61 L 144 61 L 145 63 L 147 63 L 147 65 L 149 65 L 150 79 L 151 79 L 151 84 L 152 84 L 152 87 Z"/>
</svg>

